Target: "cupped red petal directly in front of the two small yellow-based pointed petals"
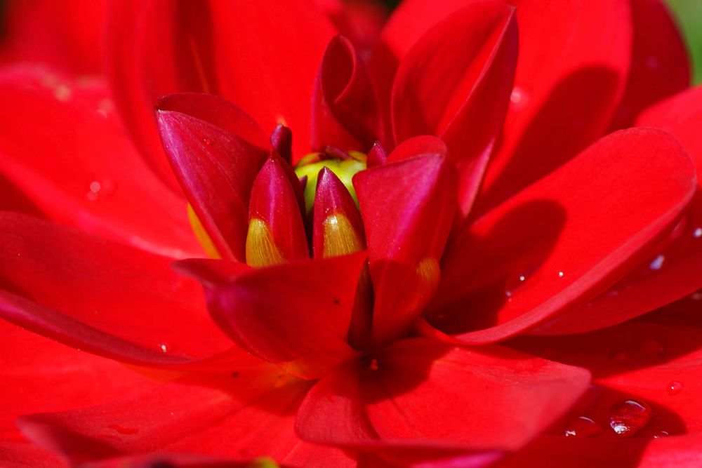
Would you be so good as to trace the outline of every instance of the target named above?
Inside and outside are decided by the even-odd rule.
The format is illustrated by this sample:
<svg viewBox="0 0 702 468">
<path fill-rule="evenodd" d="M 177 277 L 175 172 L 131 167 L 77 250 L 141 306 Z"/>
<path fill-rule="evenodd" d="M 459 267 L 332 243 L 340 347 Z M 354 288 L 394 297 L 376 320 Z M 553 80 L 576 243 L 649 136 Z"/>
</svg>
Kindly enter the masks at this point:
<svg viewBox="0 0 702 468">
<path fill-rule="evenodd" d="M 346 335 L 365 253 L 272 265 L 208 290 L 210 313 L 241 347 L 318 377 L 351 350 Z"/>
</svg>

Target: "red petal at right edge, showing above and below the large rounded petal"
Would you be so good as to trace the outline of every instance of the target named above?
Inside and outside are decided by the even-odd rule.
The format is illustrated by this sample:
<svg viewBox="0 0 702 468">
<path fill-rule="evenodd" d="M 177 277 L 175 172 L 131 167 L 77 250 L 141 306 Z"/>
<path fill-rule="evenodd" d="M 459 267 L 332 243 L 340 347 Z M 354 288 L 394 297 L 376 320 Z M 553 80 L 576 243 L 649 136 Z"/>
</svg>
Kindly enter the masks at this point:
<svg viewBox="0 0 702 468">
<path fill-rule="evenodd" d="M 702 88 L 695 88 L 647 109 L 642 126 L 664 128 L 682 142 L 702 180 Z M 685 217 L 662 246 L 634 272 L 594 300 L 545 323 L 538 333 L 559 334 L 604 328 L 649 312 L 702 288 L 702 194 L 695 195 Z M 583 317 L 587 316 L 587 320 Z"/>
</svg>

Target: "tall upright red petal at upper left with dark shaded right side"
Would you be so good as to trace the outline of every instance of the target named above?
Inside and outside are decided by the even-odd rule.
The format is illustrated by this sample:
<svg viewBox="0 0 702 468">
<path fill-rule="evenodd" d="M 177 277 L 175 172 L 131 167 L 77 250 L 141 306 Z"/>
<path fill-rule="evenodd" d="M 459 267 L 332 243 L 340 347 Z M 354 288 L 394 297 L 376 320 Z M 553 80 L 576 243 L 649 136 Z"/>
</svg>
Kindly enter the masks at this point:
<svg viewBox="0 0 702 468">
<path fill-rule="evenodd" d="M 150 166 L 179 191 L 164 158 L 153 107 L 178 91 L 216 93 L 212 13 L 204 1 L 111 1 L 105 74 L 124 123 Z"/>
</svg>

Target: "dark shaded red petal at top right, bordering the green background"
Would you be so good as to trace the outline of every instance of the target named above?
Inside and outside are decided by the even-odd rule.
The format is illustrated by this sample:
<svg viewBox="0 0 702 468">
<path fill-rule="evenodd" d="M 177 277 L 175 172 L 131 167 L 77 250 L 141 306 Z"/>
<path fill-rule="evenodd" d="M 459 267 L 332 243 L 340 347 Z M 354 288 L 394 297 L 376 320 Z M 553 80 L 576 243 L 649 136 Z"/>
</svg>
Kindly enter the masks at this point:
<svg viewBox="0 0 702 468">
<path fill-rule="evenodd" d="M 629 79 L 611 130 L 632 126 L 639 112 L 690 85 L 687 49 L 661 0 L 630 1 L 634 27 Z"/>
</svg>

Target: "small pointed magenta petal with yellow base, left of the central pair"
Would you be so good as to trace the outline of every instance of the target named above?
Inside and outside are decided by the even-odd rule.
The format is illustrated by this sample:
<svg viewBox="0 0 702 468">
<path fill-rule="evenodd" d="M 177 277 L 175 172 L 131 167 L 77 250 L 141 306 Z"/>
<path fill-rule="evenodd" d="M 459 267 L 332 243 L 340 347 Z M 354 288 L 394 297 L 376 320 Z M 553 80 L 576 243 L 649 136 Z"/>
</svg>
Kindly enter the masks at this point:
<svg viewBox="0 0 702 468">
<path fill-rule="evenodd" d="M 310 257 L 301 203 L 298 178 L 279 156 L 271 156 L 251 190 L 246 263 L 264 267 Z"/>
</svg>

